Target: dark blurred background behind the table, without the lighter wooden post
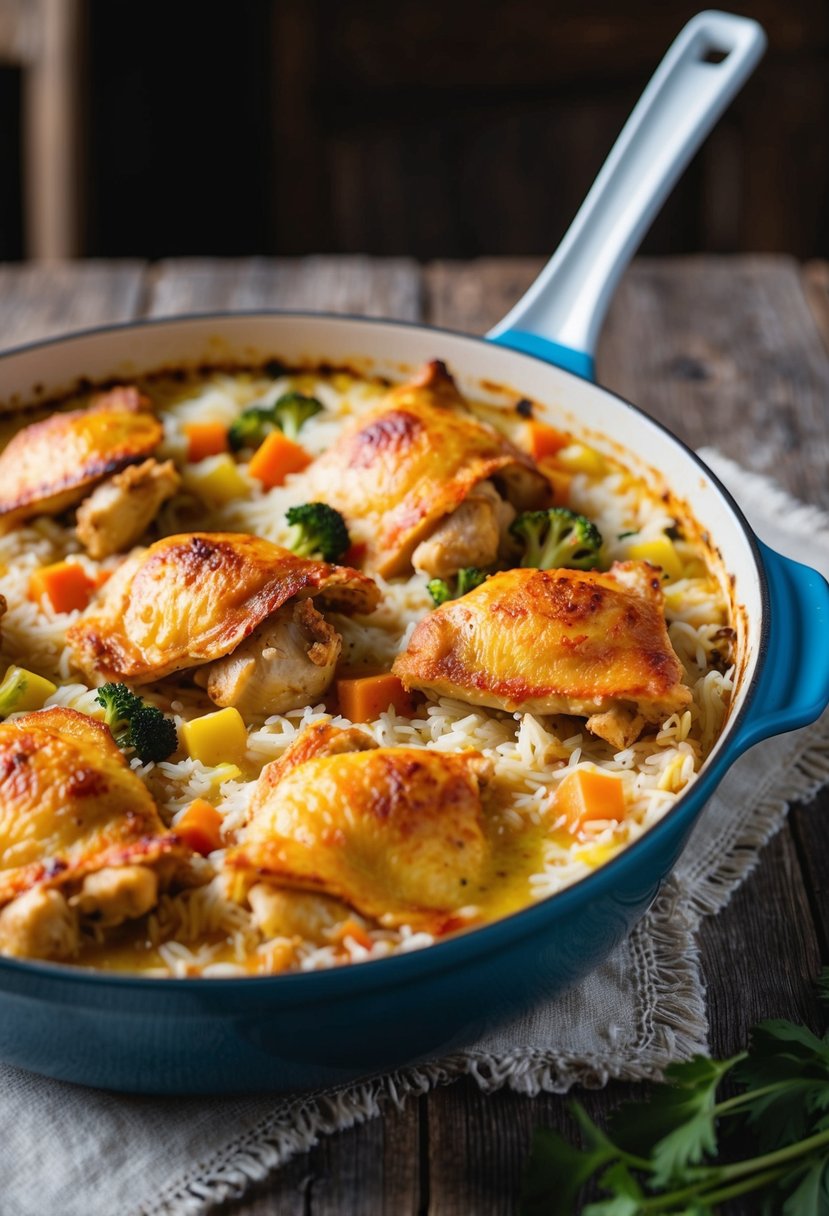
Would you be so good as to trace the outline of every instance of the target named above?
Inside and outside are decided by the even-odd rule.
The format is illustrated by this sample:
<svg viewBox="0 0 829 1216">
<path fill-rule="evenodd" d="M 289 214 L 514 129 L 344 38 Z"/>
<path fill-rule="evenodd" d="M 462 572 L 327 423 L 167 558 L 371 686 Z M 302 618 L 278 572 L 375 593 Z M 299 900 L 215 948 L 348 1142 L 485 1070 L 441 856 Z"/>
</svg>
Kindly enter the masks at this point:
<svg viewBox="0 0 829 1216">
<path fill-rule="evenodd" d="M 672 38 L 673 0 L 86 0 L 86 257 L 543 254 Z M 732 4 L 769 50 L 648 253 L 829 255 L 829 0 Z M 24 248 L 0 71 L 0 257 Z"/>
</svg>

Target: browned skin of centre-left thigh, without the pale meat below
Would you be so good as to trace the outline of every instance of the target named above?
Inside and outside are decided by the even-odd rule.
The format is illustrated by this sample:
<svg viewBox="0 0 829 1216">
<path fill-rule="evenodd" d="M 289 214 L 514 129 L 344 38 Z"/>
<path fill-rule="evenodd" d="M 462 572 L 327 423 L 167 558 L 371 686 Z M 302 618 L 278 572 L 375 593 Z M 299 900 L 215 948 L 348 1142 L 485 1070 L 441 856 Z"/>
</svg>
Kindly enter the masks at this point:
<svg viewBox="0 0 829 1216">
<path fill-rule="evenodd" d="M 69 630 L 81 670 L 147 683 L 219 659 L 293 597 L 372 612 L 376 584 L 244 533 L 167 536 L 131 554 Z"/>
</svg>

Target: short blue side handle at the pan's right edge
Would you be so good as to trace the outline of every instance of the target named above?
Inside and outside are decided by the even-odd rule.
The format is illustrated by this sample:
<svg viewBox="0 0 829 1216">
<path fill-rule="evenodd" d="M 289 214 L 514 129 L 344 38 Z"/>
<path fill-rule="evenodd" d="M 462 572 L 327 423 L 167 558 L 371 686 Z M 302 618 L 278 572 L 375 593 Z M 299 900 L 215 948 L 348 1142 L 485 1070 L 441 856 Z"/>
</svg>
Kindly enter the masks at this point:
<svg viewBox="0 0 829 1216">
<path fill-rule="evenodd" d="M 768 651 L 734 741 L 738 751 L 807 726 L 829 704 L 829 585 L 811 567 L 758 544 L 768 579 Z"/>
</svg>

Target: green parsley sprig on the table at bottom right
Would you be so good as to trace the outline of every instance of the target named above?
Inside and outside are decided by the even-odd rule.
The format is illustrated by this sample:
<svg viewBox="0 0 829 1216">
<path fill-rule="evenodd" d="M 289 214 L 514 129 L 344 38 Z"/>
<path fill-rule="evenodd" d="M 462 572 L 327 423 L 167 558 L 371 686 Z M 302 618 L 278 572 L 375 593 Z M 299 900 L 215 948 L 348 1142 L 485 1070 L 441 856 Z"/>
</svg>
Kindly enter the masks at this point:
<svg viewBox="0 0 829 1216">
<path fill-rule="evenodd" d="M 829 972 L 819 990 L 829 1003 Z M 717 1100 L 727 1076 L 738 1092 Z M 748 1051 L 695 1055 L 665 1077 L 647 1102 L 620 1107 L 607 1131 L 574 1102 L 581 1148 L 538 1128 L 521 1216 L 573 1216 L 591 1178 L 607 1198 L 583 1216 L 714 1216 L 749 1193 L 762 1216 L 829 1216 L 829 1032 L 761 1021 Z M 756 1156 L 737 1155 L 740 1133 Z"/>
</svg>

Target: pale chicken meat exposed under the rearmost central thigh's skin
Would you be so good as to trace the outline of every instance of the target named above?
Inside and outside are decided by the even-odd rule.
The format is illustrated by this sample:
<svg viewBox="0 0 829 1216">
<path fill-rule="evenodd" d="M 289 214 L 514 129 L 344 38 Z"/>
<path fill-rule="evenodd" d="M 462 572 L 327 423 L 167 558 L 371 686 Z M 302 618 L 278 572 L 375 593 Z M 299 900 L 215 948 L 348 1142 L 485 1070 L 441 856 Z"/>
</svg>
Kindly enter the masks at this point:
<svg viewBox="0 0 829 1216">
<path fill-rule="evenodd" d="M 412 553 L 412 565 L 438 579 L 464 565 L 492 565 L 514 518 L 515 508 L 504 502 L 491 482 L 481 482 L 421 541 Z"/>
</svg>

